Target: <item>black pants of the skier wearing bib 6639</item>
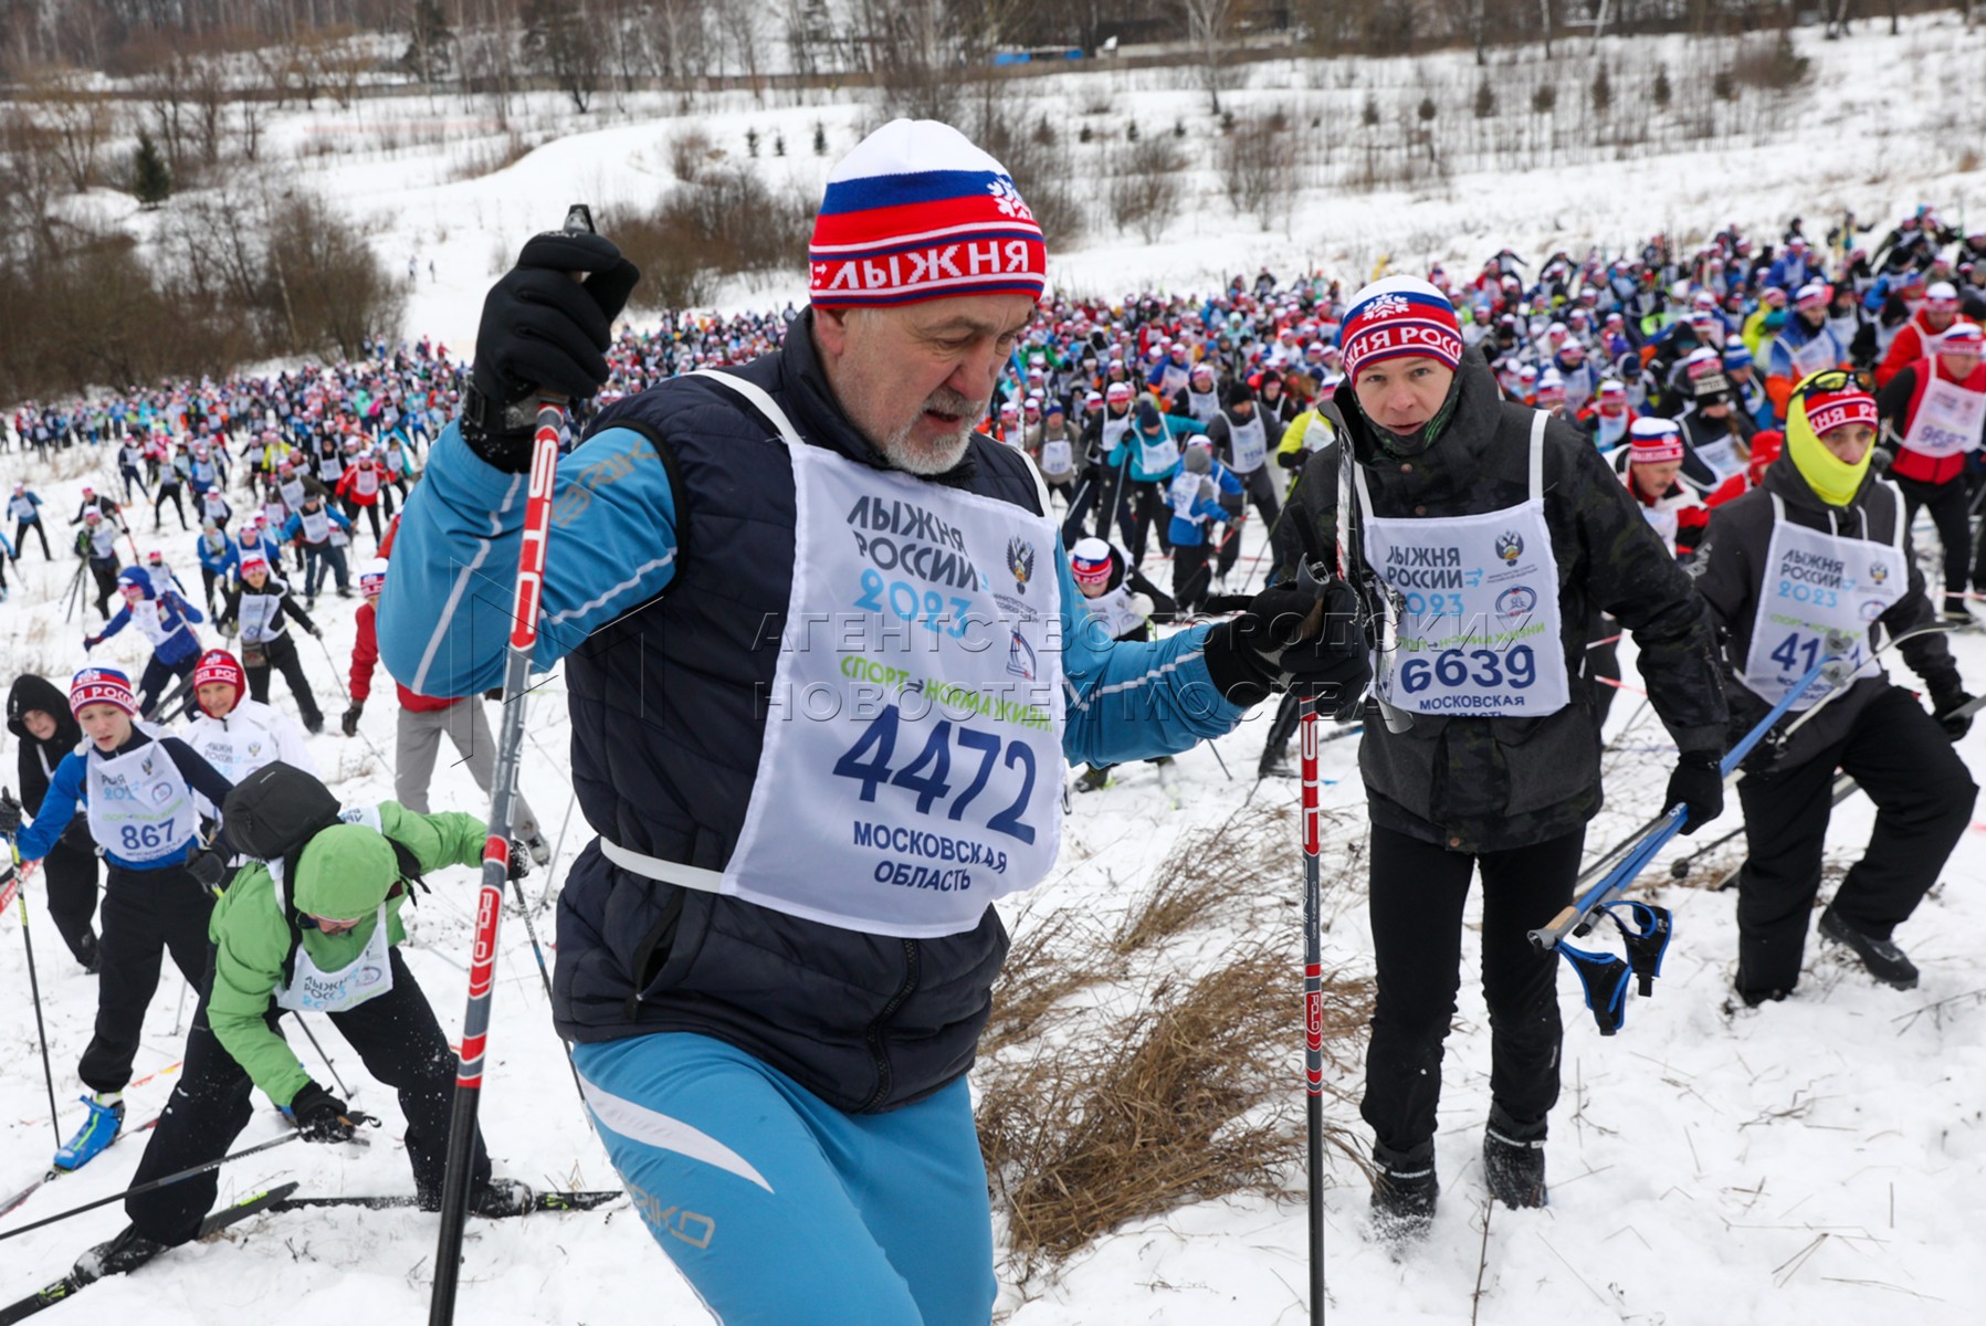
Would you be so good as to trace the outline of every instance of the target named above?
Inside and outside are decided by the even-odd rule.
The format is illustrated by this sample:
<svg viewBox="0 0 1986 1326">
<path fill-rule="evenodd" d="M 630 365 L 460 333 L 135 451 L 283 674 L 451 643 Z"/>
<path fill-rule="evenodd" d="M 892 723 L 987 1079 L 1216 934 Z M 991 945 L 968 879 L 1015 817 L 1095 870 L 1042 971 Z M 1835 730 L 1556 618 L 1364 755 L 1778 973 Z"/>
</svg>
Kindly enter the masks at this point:
<svg viewBox="0 0 1986 1326">
<path fill-rule="evenodd" d="M 1579 828 L 1529 848 L 1470 856 L 1372 826 L 1378 996 L 1360 1114 L 1382 1147 L 1412 1153 L 1434 1139 L 1442 1042 L 1462 989 L 1462 905 L 1478 867 L 1490 1100 L 1515 1124 L 1543 1127 L 1559 1100 L 1559 959 L 1533 949 L 1529 931 L 1573 899 L 1585 836 Z"/>
</svg>

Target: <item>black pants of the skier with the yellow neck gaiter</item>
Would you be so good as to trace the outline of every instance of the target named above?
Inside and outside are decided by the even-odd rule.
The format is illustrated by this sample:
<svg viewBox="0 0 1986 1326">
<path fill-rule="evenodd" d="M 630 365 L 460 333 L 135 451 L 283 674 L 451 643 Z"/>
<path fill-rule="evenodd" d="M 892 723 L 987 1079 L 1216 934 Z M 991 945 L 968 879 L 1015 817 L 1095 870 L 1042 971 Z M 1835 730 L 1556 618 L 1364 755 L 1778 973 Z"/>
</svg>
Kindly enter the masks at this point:
<svg viewBox="0 0 1986 1326">
<path fill-rule="evenodd" d="M 1869 848 L 1831 903 L 1865 935 L 1889 939 L 1911 917 L 1972 820 L 1972 774 L 1944 729 L 1899 687 L 1863 705 L 1847 736 L 1813 758 L 1746 774 L 1738 782 L 1748 852 L 1738 873 L 1740 993 L 1773 994 L 1799 983 L 1837 768 L 1877 808 Z"/>
</svg>

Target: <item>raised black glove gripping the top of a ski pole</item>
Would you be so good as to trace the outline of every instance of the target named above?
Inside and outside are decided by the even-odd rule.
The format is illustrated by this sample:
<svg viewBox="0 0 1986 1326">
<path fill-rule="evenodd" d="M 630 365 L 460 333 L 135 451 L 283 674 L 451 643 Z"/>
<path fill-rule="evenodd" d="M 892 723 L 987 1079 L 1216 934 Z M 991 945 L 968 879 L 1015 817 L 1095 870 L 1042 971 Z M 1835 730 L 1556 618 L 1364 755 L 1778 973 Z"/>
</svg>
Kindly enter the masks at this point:
<svg viewBox="0 0 1986 1326">
<path fill-rule="evenodd" d="M 586 272 L 574 282 L 572 272 Z M 586 399 L 608 381 L 604 351 L 641 268 L 598 234 L 554 230 L 524 242 L 483 300 L 463 441 L 500 470 L 530 468 L 540 391 Z"/>
</svg>

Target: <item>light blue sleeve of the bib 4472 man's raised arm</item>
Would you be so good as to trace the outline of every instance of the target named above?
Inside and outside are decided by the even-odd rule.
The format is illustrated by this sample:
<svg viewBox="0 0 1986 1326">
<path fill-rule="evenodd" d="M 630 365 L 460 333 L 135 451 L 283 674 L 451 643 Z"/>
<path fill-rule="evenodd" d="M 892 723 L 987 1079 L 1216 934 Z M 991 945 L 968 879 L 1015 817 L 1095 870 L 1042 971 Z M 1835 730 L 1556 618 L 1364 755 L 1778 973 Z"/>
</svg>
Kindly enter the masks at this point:
<svg viewBox="0 0 1986 1326">
<path fill-rule="evenodd" d="M 477 457 L 449 425 L 407 496 L 379 596 L 379 657 L 421 695 L 502 683 L 526 474 Z M 647 439 L 606 429 L 562 457 L 538 605 L 538 669 L 675 576 L 675 496 Z"/>
</svg>

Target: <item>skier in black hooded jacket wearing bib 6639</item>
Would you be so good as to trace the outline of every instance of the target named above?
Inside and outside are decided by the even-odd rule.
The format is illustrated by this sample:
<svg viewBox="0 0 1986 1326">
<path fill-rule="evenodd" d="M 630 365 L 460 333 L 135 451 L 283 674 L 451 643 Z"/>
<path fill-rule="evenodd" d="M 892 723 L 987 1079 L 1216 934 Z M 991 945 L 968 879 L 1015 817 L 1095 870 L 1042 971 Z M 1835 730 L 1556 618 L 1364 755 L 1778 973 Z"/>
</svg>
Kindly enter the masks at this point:
<svg viewBox="0 0 1986 1326">
<path fill-rule="evenodd" d="M 1362 1114 L 1376 1135 L 1374 1223 L 1418 1237 L 1438 1193 L 1442 1040 L 1478 867 L 1491 1020 L 1484 1171 L 1507 1205 L 1545 1201 L 1557 965 L 1527 931 L 1571 901 L 1585 822 L 1601 808 L 1587 621 L 1607 609 L 1640 645 L 1648 697 L 1680 750 L 1666 804 L 1686 804 L 1690 828 L 1724 804 L 1726 715 L 1688 576 L 1573 425 L 1499 397 L 1434 286 L 1368 286 L 1341 343 L 1347 427 L 1309 459 L 1281 534 L 1297 544 L 1291 566 L 1299 554 L 1345 566 L 1388 623 L 1358 750 L 1378 953 Z"/>
</svg>

